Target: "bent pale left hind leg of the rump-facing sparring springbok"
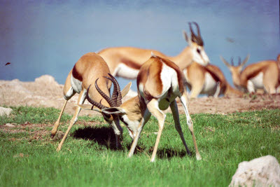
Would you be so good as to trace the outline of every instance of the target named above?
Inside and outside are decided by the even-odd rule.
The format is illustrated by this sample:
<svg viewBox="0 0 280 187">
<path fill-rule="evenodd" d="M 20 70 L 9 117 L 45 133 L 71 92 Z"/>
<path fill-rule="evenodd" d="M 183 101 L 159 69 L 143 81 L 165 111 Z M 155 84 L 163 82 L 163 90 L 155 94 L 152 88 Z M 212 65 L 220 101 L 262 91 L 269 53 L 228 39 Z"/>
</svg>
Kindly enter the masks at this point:
<svg viewBox="0 0 280 187">
<path fill-rule="evenodd" d="M 158 100 L 157 99 L 152 99 L 151 102 L 147 104 L 148 110 L 155 116 L 155 118 L 158 119 L 158 137 L 157 140 L 155 141 L 155 147 L 153 148 L 153 154 L 151 157 L 151 162 L 155 161 L 155 155 L 157 154 L 158 151 L 158 144 L 160 143 L 160 137 L 162 135 L 162 130 L 165 125 L 165 113 L 163 113 L 159 108 L 158 108 Z"/>
</svg>

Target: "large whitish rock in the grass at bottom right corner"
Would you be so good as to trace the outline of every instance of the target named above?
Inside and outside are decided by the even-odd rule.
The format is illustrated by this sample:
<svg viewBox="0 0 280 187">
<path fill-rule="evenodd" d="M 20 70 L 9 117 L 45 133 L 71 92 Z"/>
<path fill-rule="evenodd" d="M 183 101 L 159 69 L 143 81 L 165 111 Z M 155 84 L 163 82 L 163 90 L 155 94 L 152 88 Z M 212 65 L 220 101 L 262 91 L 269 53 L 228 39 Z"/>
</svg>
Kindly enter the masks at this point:
<svg viewBox="0 0 280 187">
<path fill-rule="evenodd" d="M 280 186 L 279 163 L 272 155 L 240 162 L 230 186 Z"/>
</svg>

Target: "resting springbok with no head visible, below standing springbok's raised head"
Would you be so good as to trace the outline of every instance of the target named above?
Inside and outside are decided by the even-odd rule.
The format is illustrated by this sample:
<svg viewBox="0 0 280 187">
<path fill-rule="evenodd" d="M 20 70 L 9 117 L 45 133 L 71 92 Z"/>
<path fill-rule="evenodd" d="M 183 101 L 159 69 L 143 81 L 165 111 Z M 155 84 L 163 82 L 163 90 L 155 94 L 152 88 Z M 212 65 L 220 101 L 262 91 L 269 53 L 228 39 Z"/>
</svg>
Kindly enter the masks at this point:
<svg viewBox="0 0 280 187">
<path fill-rule="evenodd" d="M 190 98 L 196 98 L 200 94 L 218 97 L 225 95 L 229 97 L 241 97 L 242 92 L 232 88 L 223 75 L 220 68 L 213 64 L 202 66 L 196 62 L 183 69 L 188 88 L 190 88 Z"/>
</svg>

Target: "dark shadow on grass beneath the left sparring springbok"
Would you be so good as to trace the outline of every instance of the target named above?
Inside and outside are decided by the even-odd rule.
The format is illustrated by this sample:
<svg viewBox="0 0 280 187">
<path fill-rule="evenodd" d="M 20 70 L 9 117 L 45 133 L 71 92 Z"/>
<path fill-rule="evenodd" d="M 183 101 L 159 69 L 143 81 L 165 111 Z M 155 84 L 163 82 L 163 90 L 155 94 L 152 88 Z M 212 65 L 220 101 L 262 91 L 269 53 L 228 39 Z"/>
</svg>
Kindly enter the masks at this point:
<svg viewBox="0 0 280 187">
<path fill-rule="evenodd" d="M 106 146 L 110 149 L 116 148 L 116 137 L 111 127 L 85 127 L 73 132 L 76 139 L 86 139 L 96 141 L 99 145 Z"/>
</svg>

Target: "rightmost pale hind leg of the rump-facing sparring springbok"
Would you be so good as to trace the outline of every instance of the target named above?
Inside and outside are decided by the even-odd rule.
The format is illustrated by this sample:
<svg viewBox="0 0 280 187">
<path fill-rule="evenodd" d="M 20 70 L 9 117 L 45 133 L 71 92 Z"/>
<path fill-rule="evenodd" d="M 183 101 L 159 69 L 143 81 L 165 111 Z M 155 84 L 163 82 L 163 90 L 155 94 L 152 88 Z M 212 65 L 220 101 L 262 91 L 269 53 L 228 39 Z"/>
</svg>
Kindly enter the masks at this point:
<svg viewBox="0 0 280 187">
<path fill-rule="evenodd" d="M 200 152 L 198 151 L 197 141 L 195 140 L 195 133 L 193 132 L 193 121 L 190 118 L 190 114 L 188 113 L 188 106 L 187 106 L 188 96 L 187 96 L 186 90 L 183 93 L 183 95 L 180 97 L 180 99 L 181 99 L 181 102 L 183 104 L 183 109 L 186 113 L 188 129 L 190 130 L 190 134 L 192 134 L 192 137 L 193 137 L 193 144 L 195 145 L 196 158 L 197 158 L 197 160 L 201 160 L 202 157 L 200 155 Z"/>
</svg>

